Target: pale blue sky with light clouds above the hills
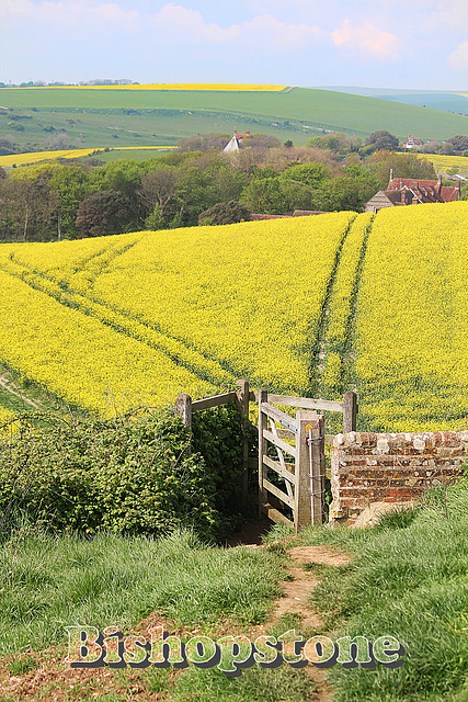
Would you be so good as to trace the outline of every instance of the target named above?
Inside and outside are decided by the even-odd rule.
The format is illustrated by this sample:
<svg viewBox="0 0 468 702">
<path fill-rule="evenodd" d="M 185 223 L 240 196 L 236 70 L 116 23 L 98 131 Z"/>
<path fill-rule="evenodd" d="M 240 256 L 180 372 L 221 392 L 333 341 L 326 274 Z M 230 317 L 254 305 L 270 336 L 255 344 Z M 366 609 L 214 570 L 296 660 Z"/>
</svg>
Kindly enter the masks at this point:
<svg viewBox="0 0 468 702">
<path fill-rule="evenodd" d="M 0 81 L 468 92 L 468 0 L 0 0 Z"/>
</svg>

